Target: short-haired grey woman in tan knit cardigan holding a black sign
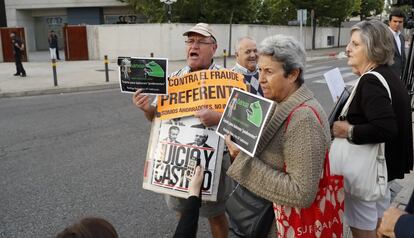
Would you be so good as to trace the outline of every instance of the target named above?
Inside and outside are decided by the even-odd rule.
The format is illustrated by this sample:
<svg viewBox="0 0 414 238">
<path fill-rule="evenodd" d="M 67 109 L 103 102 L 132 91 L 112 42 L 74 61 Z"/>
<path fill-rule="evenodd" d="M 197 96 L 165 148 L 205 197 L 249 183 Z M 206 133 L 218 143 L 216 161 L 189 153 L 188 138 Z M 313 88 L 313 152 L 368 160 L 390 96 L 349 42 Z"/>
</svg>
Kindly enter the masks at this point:
<svg viewBox="0 0 414 238">
<path fill-rule="evenodd" d="M 307 208 L 315 201 L 330 144 L 326 114 L 304 84 L 305 60 L 303 47 L 292 37 L 266 38 L 259 46 L 259 82 L 263 96 L 275 106 L 255 156 L 239 151 L 226 137 L 233 159 L 227 174 L 275 205 L 293 208 Z M 278 235 L 285 237 L 281 233 L 278 226 Z"/>
</svg>

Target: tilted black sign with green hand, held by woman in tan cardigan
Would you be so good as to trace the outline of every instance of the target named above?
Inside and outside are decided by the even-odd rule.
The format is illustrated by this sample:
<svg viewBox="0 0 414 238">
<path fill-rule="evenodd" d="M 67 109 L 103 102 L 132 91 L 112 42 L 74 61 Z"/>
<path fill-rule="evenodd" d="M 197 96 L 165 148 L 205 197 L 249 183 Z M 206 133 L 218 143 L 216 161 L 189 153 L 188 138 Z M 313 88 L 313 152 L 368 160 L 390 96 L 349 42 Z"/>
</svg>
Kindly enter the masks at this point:
<svg viewBox="0 0 414 238">
<path fill-rule="evenodd" d="M 269 99 L 233 89 L 217 134 L 221 137 L 230 134 L 235 144 L 253 157 L 272 105 Z"/>
</svg>

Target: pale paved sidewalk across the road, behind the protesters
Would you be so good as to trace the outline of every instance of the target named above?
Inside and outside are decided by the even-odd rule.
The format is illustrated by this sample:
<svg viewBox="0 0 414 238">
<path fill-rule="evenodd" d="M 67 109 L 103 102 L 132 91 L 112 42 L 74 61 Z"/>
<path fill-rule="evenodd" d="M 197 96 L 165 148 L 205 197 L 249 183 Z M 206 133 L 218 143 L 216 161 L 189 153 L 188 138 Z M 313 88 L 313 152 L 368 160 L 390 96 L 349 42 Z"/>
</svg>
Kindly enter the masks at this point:
<svg viewBox="0 0 414 238">
<path fill-rule="evenodd" d="M 334 58 L 344 48 L 329 48 L 308 50 L 308 61 Z M 63 56 L 64 53 L 61 52 Z M 216 62 L 223 65 L 223 58 Z M 234 65 L 234 57 L 227 58 L 227 68 Z M 169 72 L 180 69 L 185 61 L 169 62 Z M 29 53 L 29 62 L 23 62 L 27 77 L 13 76 L 14 63 L 0 63 L 0 98 L 16 96 L 32 96 L 53 93 L 78 92 L 119 87 L 118 66 L 115 59 L 109 63 L 109 82 L 105 81 L 105 66 L 103 60 L 87 61 L 58 61 L 57 81 L 54 86 L 52 65 L 49 51 Z"/>
</svg>

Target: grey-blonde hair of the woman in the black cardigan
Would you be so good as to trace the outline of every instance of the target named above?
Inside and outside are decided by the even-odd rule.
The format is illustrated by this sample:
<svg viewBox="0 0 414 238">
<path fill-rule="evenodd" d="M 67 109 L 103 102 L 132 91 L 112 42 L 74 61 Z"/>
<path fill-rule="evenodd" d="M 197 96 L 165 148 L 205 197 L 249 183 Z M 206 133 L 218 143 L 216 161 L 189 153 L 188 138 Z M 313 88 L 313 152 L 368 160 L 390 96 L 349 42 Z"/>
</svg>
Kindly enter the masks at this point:
<svg viewBox="0 0 414 238">
<path fill-rule="evenodd" d="M 384 23 L 378 20 L 361 21 L 351 28 L 351 35 L 355 31 L 361 34 L 369 60 L 379 65 L 394 63 L 394 37 Z"/>
</svg>

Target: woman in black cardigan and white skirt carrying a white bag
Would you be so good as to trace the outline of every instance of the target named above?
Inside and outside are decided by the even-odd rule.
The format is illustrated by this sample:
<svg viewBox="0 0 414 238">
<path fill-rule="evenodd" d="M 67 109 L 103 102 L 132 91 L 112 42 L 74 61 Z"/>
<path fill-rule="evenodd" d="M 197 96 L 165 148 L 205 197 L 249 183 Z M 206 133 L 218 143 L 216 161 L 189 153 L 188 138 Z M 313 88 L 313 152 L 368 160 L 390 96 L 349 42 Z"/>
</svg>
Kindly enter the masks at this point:
<svg viewBox="0 0 414 238">
<path fill-rule="evenodd" d="M 348 65 L 360 78 L 346 118 L 332 127 L 335 138 L 347 138 L 352 144 L 385 142 L 388 181 L 403 178 L 413 168 L 410 101 L 403 83 L 390 67 L 393 44 L 389 29 L 380 21 L 362 21 L 351 28 L 346 47 Z M 383 76 L 391 98 L 385 84 L 369 71 Z M 346 190 L 344 222 L 351 227 L 352 236 L 376 237 L 377 225 L 389 205 L 388 188 L 385 196 L 376 201 L 363 201 Z"/>
</svg>

